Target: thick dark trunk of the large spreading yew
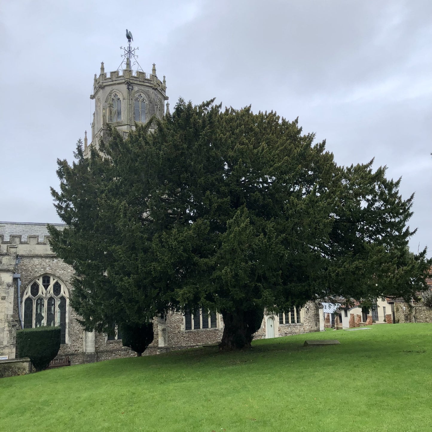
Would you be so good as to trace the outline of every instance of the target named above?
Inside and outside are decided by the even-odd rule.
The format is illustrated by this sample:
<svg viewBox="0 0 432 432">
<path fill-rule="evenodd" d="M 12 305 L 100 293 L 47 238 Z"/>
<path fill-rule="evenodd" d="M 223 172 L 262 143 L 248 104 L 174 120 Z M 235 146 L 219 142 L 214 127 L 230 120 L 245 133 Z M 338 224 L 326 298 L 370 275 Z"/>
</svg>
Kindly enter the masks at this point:
<svg viewBox="0 0 432 432">
<path fill-rule="evenodd" d="M 234 311 L 221 311 L 223 317 L 223 335 L 219 344 L 221 351 L 245 349 L 251 347 L 254 333 L 260 328 L 264 317 L 262 308 L 244 311 L 235 308 Z"/>
</svg>

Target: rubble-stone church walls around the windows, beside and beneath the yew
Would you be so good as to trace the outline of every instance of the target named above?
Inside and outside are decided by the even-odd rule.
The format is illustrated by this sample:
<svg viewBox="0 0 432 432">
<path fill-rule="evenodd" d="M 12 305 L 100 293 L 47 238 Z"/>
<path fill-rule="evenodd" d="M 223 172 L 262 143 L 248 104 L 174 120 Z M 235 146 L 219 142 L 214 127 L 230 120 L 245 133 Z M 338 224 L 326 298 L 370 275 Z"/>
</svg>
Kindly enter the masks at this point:
<svg viewBox="0 0 432 432">
<path fill-rule="evenodd" d="M 16 330 L 20 328 L 14 274 L 20 275 L 21 299 L 26 288 L 41 275 L 51 275 L 60 280 L 66 287 L 69 298 L 73 295 L 73 269 L 51 251 L 46 226 L 34 224 L 35 235 L 32 235 L 32 224 L 23 224 L 22 234 L 19 235 L 19 225 L 0 222 L 0 356 L 7 356 L 9 359 L 15 358 Z M 10 227 L 13 228 L 12 232 L 9 230 Z M 57 229 L 62 228 L 62 225 L 57 225 Z M 302 322 L 296 324 L 279 324 L 277 314 L 266 313 L 254 338 L 269 337 L 269 318 L 273 319 L 274 337 L 319 331 L 319 310 L 317 304 L 307 303 L 300 311 Z M 106 334 L 85 332 L 76 320 L 78 317 L 68 301 L 66 316 L 66 343 L 60 346 L 58 358 L 68 356 L 73 365 L 136 356 L 130 348 L 122 345 L 121 340 L 108 340 Z M 219 343 L 223 333 L 223 320 L 220 314 L 217 314 L 216 321 L 216 328 L 186 330 L 184 316 L 180 313 L 168 313 L 166 319 L 155 318 L 154 340 L 143 354 L 157 354 L 172 349 Z"/>
</svg>

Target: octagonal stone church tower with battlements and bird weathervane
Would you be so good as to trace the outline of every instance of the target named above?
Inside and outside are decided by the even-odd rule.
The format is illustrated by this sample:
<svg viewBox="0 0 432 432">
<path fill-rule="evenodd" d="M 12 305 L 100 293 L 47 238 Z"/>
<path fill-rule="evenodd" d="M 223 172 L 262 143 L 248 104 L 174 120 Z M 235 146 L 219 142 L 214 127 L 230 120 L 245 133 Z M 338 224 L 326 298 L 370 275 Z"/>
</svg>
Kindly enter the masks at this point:
<svg viewBox="0 0 432 432">
<path fill-rule="evenodd" d="M 90 95 L 90 99 L 95 100 L 90 145 L 96 149 L 101 137 L 106 137 L 107 124 L 116 127 L 126 137 L 130 130 L 135 129 L 135 123 L 146 123 L 153 114 L 159 118 L 165 114 L 165 101 L 168 100 L 165 76 L 162 81 L 158 79 L 154 63 L 151 73 L 144 72 L 135 54 L 138 48 L 130 46 L 131 33 L 127 31 L 126 37 L 128 46 L 121 47 L 124 54 L 118 69 L 107 76 L 102 62 L 99 76 L 95 74 L 93 94 Z M 135 65 L 137 70 L 133 70 Z M 169 112 L 168 103 L 166 108 Z M 87 136 L 84 139 L 84 155 L 89 155 Z"/>
</svg>

